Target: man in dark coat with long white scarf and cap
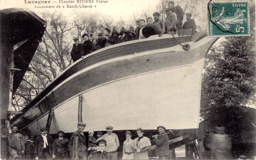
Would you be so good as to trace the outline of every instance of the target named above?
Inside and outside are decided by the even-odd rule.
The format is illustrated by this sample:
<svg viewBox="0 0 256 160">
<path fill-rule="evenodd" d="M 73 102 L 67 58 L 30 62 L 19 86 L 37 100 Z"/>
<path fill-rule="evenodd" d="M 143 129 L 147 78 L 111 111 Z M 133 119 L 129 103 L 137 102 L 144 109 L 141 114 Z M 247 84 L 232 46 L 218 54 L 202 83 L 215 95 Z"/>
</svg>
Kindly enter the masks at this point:
<svg viewBox="0 0 256 160">
<path fill-rule="evenodd" d="M 35 159 L 55 158 L 52 154 L 52 137 L 47 135 L 47 128 L 40 128 L 41 135 L 35 139 Z"/>
</svg>

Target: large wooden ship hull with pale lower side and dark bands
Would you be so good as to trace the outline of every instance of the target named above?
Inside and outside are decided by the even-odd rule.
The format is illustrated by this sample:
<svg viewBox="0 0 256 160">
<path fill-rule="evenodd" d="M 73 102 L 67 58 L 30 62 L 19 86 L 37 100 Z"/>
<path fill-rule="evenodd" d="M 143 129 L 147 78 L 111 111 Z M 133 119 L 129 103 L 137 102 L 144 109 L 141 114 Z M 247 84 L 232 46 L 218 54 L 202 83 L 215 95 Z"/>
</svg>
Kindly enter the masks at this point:
<svg viewBox="0 0 256 160">
<path fill-rule="evenodd" d="M 55 78 L 11 125 L 34 135 L 45 126 L 49 134 L 74 132 L 79 118 L 85 131 L 109 125 L 114 130 L 198 128 L 204 61 L 217 40 L 205 33 L 153 35 L 94 51 Z"/>
</svg>

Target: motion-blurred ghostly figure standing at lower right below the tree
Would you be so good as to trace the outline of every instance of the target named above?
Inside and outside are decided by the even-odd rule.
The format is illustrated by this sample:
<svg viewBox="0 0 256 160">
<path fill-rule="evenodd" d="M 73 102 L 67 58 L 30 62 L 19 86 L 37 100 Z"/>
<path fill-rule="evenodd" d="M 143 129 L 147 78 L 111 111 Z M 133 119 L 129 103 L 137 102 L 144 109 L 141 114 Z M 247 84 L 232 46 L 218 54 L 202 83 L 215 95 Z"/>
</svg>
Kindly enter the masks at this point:
<svg viewBox="0 0 256 160">
<path fill-rule="evenodd" d="M 213 159 L 232 159 L 231 139 L 226 132 L 226 127 L 216 126 L 213 133 L 210 134 L 210 148 Z"/>
</svg>

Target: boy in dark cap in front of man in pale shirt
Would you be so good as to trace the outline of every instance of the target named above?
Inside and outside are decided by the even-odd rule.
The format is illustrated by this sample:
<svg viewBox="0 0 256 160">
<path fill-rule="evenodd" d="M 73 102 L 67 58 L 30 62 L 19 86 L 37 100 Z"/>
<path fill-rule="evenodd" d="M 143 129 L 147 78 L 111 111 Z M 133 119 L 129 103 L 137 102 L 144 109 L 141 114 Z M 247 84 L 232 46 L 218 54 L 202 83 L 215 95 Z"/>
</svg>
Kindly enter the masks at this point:
<svg viewBox="0 0 256 160">
<path fill-rule="evenodd" d="M 104 151 L 105 147 L 107 146 L 107 142 L 104 139 L 100 139 L 97 143 L 97 150 L 95 150 L 92 154 L 92 157 L 90 159 L 95 160 L 106 160 L 107 158 L 107 152 Z"/>
</svg>

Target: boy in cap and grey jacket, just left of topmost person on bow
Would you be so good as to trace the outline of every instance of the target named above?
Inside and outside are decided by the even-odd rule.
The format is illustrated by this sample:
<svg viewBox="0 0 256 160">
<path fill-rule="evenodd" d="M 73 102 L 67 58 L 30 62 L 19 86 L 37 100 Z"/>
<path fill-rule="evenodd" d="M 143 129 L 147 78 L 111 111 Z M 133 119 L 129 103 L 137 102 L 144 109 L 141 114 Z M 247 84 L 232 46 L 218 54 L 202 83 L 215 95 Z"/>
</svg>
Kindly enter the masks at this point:
<svg viewBox="0 0 256 160">
<path fill-rule="evenodd" d="M 172 12 L 172 9 L 170 7 L 167 7 L 165 10 L 165 13 L 167 15 L 166 17 L 166 30 L 167 34 L 176 34 L 177 27 L 177 18 L 176 14 Z"/>
</svg>

